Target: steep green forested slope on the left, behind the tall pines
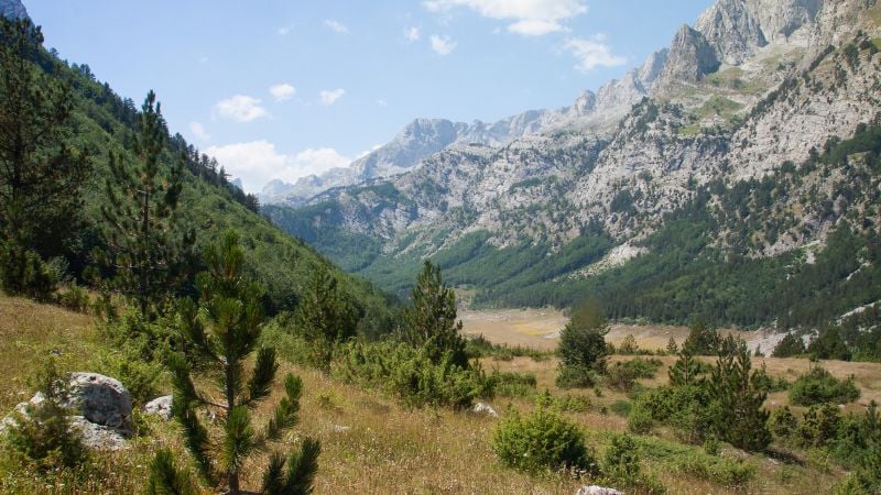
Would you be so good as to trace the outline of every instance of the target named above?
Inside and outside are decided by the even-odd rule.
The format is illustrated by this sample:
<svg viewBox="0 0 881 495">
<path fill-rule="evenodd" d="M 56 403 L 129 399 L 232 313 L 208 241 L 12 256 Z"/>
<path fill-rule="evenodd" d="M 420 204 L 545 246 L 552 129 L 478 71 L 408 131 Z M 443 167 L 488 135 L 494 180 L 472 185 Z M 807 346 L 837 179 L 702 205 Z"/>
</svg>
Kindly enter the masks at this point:
<svg viewBox="0 0 881 495">
<path fill-rule="evenodd" d="M 77 232 L 67 261 L 70 274 L 79 276 L 93 264 L 93 249 L 102 243 L 100 207 L 107 201 L 108 152 L 121 154 L 129 163 L 135 160 L 131 152 L 131 133 L 138 112 L 131 100 L 117 96 L 109 84 L 99 82 L 86 65 L 68 65 L 45 51 L 34 62 L 48 78 L 70 82 L 75 100 L 69 122 L 72 141 L 77 147 L 91 151 L 94 172 L 84 188 L 88 227 Z M 383 296 L 368 282 L 341 273 L 313 248 L 249 209 L 241 190 L 213 170 L 197 150 L 180 134 L 166 136 L 161 157 L 164 166 L 170 167 L 182 154 L 186 168 L 180 208 L 185 221 L 196 227 L 196 253 L 218 240 L 225 230 L 235 229 L 246 244 L 248 270 L 267 286 L 272 310 L 293 309 L 318 265 L 326 265 L 335 273 L 342 290 L 361 312 L 369 308 L 384 310 Z M 199 270 L 198 266 L 194 268 Z"/>
</svg>

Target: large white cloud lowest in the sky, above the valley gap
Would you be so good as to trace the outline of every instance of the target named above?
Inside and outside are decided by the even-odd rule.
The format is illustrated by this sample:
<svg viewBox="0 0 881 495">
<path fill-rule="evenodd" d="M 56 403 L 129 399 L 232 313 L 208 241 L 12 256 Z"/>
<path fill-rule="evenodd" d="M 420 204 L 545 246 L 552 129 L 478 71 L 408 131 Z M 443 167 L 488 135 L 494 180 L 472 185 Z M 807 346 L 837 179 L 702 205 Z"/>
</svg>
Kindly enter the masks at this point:
<svg viewBox="0 0 881 495">
<path fill-rule="evenodd" d="M 350 158 L 331 147 L 308 148 L 289 155 L 280 153 L 273 143 L 265 140 L 210 146 L 205 153 L 216 157 L 231 176 L 241 178 L 248 193 L 259 193 L 273 179 L 294 183 L 301 177 L 351 163 Z"/>
</svg>

